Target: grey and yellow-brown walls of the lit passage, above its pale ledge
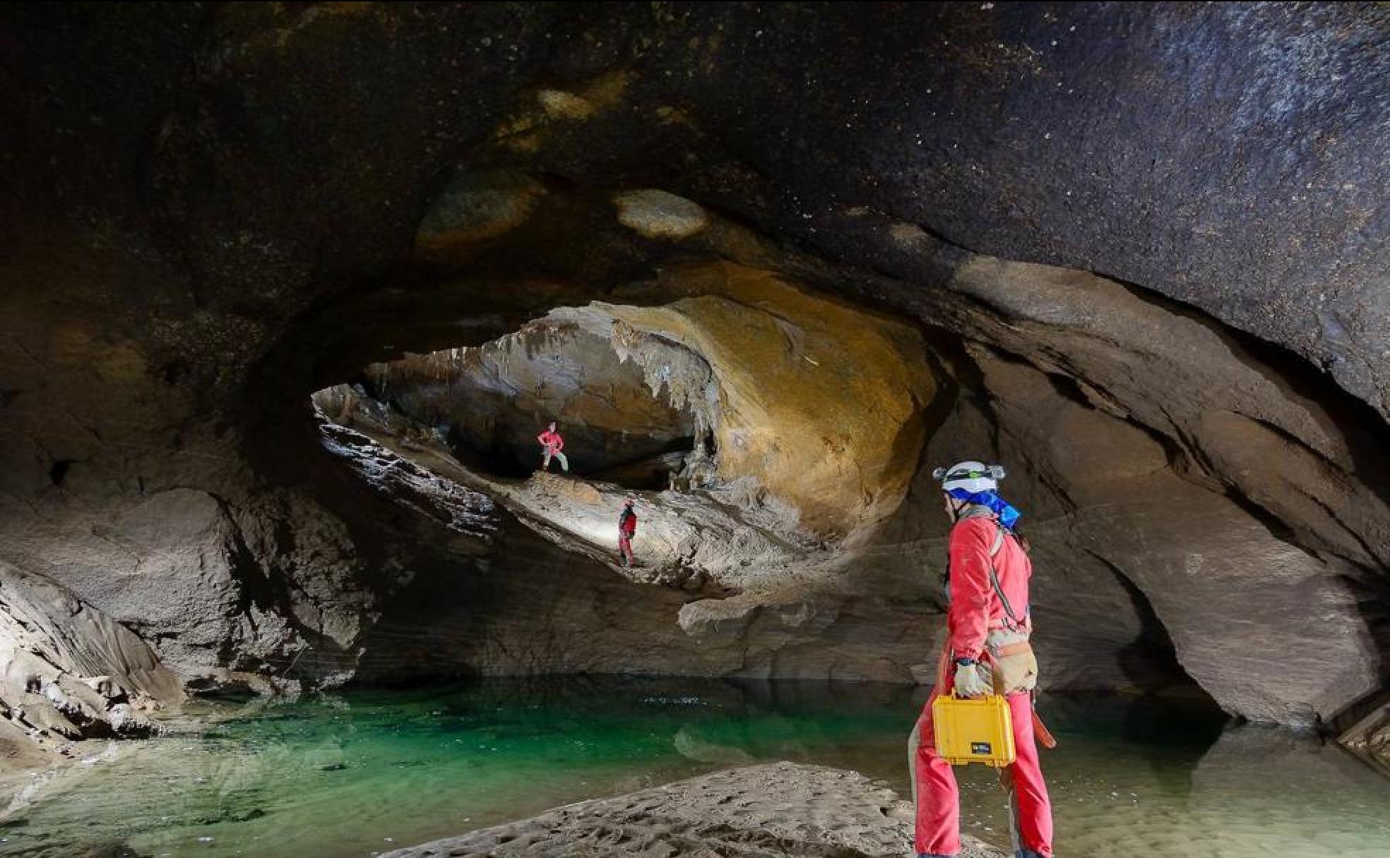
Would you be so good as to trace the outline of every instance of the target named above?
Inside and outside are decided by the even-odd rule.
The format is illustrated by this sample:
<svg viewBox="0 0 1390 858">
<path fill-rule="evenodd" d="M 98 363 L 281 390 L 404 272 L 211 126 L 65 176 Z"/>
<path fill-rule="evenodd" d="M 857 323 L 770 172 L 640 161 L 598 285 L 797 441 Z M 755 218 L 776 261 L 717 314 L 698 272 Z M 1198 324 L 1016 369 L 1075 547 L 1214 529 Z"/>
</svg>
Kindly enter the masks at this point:
<svg viewBox="0 0 1390 858">
<path fill-rule="evenodd" d="M 687 460 L 710 468 L 696 485 L 778 507 L 788 533 L 840 540 L 898 507 L 935 392 L 915 330 L 733 264 L 676 269 L 648 292 L 669 303 L 557 310 L 475 351 L 374 365 L 367 392 L 480 439 L 466 447 L 495 436 L 524 450 L 527 471 L 548 415 L 578 439 L 566 441 L 578 473 L 600 472 L 612 447 L 641 460 L 694 435 L 712 460 Z"/>
</svg>

